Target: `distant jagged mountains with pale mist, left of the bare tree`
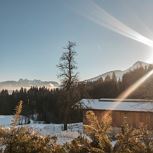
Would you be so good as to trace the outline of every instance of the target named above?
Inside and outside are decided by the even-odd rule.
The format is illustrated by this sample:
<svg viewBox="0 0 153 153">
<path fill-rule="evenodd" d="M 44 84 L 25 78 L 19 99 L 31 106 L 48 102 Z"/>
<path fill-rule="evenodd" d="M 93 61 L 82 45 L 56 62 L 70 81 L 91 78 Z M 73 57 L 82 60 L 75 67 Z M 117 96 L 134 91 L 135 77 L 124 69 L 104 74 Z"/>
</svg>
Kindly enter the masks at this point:
<svg viewBox="0 0 153 153">
<path fill-rule="evenodd" d="M 58 88 L 59 84 L 55 81 L 41 81 L 20 79 L 18 81 L 4 81 L 0 82 L 0 91 L 7 89 L 9 92 L 13 90 L 20 90 L 21 88 L 30 89 L 31 87 L 46 87 L 48 89 Z"/>
</svg>

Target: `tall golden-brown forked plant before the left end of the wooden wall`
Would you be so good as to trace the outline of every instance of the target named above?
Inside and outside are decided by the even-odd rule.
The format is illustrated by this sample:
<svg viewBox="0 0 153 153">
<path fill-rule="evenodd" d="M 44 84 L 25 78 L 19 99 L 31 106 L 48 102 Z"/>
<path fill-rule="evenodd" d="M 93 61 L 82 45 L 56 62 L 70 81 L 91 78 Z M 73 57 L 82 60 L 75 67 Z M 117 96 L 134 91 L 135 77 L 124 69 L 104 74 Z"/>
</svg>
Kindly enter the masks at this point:
<svg viewBox="0 0 153 153">
<path fill-rule="evenodd" d="M 92 111 L 86 113 L 89 125 L 85 125 L 85 132 L 91 138 L 92 150 L 95 152 L 110 153 L 112 151 L 111 140 L 108 136 L 111 125 L 110 114 L 106 114 L 101 122 Z"/>
</svg>

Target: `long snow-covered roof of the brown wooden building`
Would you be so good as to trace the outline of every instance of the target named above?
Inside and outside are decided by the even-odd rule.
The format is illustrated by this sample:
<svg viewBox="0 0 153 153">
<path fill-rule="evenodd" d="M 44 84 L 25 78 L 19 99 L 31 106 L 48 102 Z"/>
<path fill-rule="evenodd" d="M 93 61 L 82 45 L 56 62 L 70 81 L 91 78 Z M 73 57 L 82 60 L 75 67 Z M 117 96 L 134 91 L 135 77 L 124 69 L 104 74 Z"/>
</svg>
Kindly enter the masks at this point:
<svg viewBox="0 0 153 153">
<path fill-rule="evenodd" d="M 130 101 L 119 102 L 117 99 L 82 99 L 81 104 L 83 109 L 153 112 L 153 101 L 151 100 L 132 101 L 130 99 Z"/>
</svg>

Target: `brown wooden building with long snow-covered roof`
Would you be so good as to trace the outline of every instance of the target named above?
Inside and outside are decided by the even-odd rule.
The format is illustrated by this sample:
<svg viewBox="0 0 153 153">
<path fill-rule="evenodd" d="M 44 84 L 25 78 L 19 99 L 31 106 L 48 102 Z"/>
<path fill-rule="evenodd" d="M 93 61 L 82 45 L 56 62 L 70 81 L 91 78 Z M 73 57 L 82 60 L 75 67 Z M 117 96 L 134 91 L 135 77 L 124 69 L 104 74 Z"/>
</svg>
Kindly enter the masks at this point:
<svg viewBox="0 0 153 153">
<path fill-rule="evenodd" d="M 147 127 L 153 129 L 153 101 L 126 99 L 82 99 L 83 123 L 87 124 L 86 112 L 91 110 L 98 120 L 104 119 L 106 113 L 111 114 L 112 127 L 121 127 L 124 118 L 134 128 Z"/>
</svg>

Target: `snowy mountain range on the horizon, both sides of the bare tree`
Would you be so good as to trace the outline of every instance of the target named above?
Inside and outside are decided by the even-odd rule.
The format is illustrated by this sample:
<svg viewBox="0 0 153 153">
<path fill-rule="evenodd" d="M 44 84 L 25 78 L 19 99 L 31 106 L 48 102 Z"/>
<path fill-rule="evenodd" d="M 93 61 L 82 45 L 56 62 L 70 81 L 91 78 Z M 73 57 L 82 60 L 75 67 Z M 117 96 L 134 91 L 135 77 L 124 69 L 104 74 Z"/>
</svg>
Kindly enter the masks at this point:
<svg viewBox="0 0 153 153">
<path fill-rule="evenodd" d="M 148 67 L 150 64 L 142 62 L 142 61 L 137 61 L 134 63 L 131 67 L 128 69 L 121 71 L 121 70 L 115 70 L 115 71 L 109 71 L 104 74 L 101 74 L 99 76 L 96 76 L 94 78 L 85 80 L 84 82 L 93 82 L 96 81 L 100 78 L 105 79 L 106 76 L 112 77 L 113 73 L 115 73 L 117 80 L 122 80 L 122 77 L 125 73 L 135 70 L 140 67 Z M 3 89 L 7 89 L 9 93 L 11 93 L 13 90 L 20 90 L 21 88 L 26 88 L 30 89 L 31 87 L 46 87 L 48 89 L 55 89 L 59 87 L 59 83 L 55 81 L 41 81 L 41 80 L 28 80 L 28 79 L 20 79 L 18 81 L 4 81 L 0 82 L 0 91 Z"/>
</svg>

